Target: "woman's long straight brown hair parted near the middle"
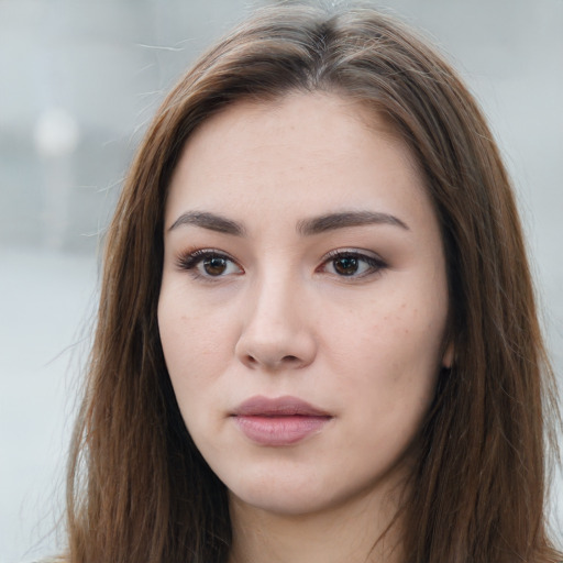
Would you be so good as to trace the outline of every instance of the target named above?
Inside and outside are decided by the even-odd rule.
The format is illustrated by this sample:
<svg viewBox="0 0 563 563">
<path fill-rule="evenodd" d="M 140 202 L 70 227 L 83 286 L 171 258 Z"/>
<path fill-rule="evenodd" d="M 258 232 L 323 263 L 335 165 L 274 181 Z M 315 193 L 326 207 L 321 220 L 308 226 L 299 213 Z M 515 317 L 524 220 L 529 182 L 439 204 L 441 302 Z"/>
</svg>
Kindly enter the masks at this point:
<svg viewBox="0 0 563 563">
<path fill-rule="evenodd" d="M 553 377 L 514 195 L 483 115 L 443 58 L 396 20 L 297 5 L 258 11 L 208 51 L 157 111 L 132 165 L 106 241 L 73 442 L 68 560 L 227 561 L 225 488 L 185 428 L 158 336 L 163 208 L 198 124 L 238 100 L 296 90 L 384 117 L 417 158 L 442 230 L 455 361 L 418 441 L 405 561 L 562 560 L 544 516 Z"/>
</svg>

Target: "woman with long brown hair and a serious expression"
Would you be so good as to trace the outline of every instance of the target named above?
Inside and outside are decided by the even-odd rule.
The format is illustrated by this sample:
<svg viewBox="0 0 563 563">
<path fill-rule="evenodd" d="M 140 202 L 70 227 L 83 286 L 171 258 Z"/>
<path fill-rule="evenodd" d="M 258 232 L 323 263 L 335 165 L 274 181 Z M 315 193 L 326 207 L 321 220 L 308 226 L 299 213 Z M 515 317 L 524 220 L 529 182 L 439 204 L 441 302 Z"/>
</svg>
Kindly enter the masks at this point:
<svg viewBox="0 0 563 563">
<path fill-rule="evenodd" d="M 261 11 L 164 101 L 88 375 L 68 561 L 562 559 L 506 170 L 453 70 L 373 10 Z"/>
</svg>

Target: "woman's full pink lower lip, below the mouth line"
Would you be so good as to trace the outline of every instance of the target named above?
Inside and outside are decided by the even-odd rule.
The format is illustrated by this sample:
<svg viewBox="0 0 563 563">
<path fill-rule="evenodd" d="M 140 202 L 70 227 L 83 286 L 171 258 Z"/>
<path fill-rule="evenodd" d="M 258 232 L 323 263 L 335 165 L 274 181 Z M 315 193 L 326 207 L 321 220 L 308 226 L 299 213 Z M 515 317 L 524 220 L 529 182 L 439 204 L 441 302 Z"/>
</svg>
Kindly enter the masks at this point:
<svg viewBox="0 0 563 563">
<path fill-rule="evenodd" d="M 322 430 L 331 417 L 314 416 L 236 416 L 243 434 L 260 445 L 291 445 Z"/>
</svg>

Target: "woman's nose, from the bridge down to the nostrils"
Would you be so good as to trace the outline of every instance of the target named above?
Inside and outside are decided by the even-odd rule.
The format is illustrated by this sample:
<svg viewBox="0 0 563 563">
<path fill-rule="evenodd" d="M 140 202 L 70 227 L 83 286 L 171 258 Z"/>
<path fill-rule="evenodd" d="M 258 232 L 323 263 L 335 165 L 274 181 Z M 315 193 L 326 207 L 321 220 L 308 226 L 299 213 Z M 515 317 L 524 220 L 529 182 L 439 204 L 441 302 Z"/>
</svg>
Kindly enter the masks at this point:
<svg viewBox="0 0 563 563">
<path fill-rule="evenodd" d="M 249 288 L 250 289 L 250 288 Z M 251 290 L 251 289 L 250 289 Z M 317 355 L 314 324 L 296 284 L 263 282 L 245 303 L 236 357 L 250 368 L 299 369 Z"/>
</svg>

